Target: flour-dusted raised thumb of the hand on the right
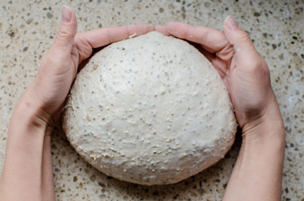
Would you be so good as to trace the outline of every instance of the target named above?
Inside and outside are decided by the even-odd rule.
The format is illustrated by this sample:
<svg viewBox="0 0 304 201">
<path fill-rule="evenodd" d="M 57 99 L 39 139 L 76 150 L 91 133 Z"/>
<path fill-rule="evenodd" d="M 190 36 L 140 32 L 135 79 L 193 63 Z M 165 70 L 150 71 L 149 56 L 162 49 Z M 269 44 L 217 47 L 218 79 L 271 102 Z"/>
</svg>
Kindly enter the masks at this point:
<svg viewBox="0 0 304 201">
<path fill-rule="evenodd" d="M 228 15 L 224 20 L 224 33 L 229 43 L 234 48 L 234 53 L 239 62 L 254 61 L 257 56 L 260 56 L 255 49 L 250 36 L 242 30 L 235 19 Z"/>
</svg>

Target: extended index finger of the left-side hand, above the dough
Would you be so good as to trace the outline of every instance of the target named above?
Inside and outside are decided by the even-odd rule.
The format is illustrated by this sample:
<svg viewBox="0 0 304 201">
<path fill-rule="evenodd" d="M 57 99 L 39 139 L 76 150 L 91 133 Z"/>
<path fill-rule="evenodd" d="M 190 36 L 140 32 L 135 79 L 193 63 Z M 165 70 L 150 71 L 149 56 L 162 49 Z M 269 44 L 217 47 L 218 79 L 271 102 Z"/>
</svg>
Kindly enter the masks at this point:
<svg viewBox="0 0 304 201">
<path fill-rule="evenodd" d="M 92 48 L 108 45 L 123 39 L 139 36 L 154 31 L 153 25 L 129 25 L 105 27 L 82 32 L 77 35 L 79 39 L 85 39 Z"/>
</svg>

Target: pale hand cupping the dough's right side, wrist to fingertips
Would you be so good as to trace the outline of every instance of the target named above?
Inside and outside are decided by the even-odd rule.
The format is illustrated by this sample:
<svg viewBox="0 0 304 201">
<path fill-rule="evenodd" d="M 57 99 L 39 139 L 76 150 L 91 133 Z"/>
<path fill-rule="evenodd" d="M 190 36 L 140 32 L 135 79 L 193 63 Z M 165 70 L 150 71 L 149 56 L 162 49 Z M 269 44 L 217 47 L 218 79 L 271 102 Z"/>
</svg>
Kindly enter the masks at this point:
<svg viewBox="0 0 304 201">
<path fill-rule="evenodd" d="M 227 87 L 243 133 L 269 118 L 281 121 L 267 63 L 232 16 L 226 17 L 223 26 L 224 32 L 177 22 L 168 22 L 166 28 L 167 35 L 198 43 L 202 48 Z"/>
</svg>

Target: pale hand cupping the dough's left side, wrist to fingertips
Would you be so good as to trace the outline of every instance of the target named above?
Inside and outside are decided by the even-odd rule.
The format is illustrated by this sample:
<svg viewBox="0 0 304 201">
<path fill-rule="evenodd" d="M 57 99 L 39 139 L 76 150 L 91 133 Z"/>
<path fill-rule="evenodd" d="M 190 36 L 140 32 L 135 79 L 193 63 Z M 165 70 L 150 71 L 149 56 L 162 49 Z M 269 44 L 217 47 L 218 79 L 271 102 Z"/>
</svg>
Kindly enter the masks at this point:
<svg viewBox="0 0 304 201">
<path fill-rule="evenodd" d="M 62 19 L 50 51 L 43 57 L 38 74 L 30 84 L 28 97 L 40 107 L 40 118 L 48 124 L 61 114 L 78 64 L 93 53 L 93 48 L 127 39 L 154 30 L 152 25 L 106 27 L 77 33 L 75 13 L 63 6 Z M 46 117 L 47 116 L 47 117 Z"/>
</svg>

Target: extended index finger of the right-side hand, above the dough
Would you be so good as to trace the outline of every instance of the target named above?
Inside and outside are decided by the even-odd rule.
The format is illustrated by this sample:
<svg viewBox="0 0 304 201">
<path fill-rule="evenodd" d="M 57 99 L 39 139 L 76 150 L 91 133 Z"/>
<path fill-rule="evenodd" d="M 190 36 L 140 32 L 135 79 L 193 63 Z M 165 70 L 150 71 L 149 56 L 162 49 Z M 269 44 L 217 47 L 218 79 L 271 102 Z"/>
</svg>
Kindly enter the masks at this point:
<svg viewBox="0 0 304 201">
<path fill-rule="evenodd" d="M 166 27 L 171 35 L 202 44 L 210 48 L 208 50 L 212 53 L 223 49 L 228 44 L 223 32 L 209 27 L 191 26 L 179 22 L 168 22 Z"/>
</svg>

